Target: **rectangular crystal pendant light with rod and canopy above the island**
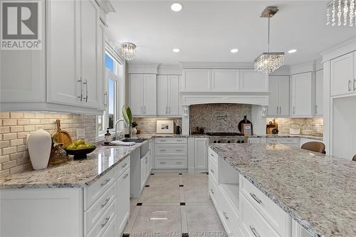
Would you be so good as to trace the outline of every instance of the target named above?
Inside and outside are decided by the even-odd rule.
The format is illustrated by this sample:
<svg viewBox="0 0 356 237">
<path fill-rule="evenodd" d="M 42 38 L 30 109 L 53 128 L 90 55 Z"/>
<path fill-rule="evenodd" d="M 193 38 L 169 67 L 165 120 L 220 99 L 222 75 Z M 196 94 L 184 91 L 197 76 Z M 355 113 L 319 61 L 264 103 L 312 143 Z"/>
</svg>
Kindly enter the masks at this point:
<svg viewBox="0 0 356 237">
<path fill-rule="evenodd" d="M 261 55 L 255 59 L 255 70 L 263 73 L 272 73 L 284 64 L 284 52 L 269 51 L 270 19 L 277 12 L 278 8 L 276 6 L 268 6 L 261 14 L 261 17 L 268 17 L 268 52 L 261 53 Z"/>
</svg>

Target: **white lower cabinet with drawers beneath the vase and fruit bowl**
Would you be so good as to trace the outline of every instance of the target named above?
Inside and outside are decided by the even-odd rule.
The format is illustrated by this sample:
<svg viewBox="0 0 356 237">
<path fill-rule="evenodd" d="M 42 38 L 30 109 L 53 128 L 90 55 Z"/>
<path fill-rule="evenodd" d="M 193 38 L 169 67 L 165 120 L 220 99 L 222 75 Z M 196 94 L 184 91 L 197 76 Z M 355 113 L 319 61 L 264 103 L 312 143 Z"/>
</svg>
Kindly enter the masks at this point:
<svg viewBox="0 0 356 237">
<path fill-rule="evenodd" d="M 0 236 L 121 236 L 130 216 L 129 160 L 85 188 L 1 189 Z"/>
</svg>

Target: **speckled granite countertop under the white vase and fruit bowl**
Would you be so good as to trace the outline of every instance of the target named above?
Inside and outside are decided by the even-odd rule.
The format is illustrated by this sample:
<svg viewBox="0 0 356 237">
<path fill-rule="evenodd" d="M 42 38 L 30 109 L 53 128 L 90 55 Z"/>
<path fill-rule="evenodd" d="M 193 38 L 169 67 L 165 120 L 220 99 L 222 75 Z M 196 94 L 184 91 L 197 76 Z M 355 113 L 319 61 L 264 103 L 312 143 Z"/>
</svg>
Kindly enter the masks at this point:
<svg viewBox="0 0 356 237">
<path fill-rule="evenodd" d="M 70 156 L 71 160 L 68 164 L 41 170 L 31 170 L 1 178 L 0 188 L 85 187 L 102 177 L 145 142 L 127 147 L 98 146 L 94 152 L 88 154 L 87 159 L 73 160 L 73 157 Z"/>
</svg>

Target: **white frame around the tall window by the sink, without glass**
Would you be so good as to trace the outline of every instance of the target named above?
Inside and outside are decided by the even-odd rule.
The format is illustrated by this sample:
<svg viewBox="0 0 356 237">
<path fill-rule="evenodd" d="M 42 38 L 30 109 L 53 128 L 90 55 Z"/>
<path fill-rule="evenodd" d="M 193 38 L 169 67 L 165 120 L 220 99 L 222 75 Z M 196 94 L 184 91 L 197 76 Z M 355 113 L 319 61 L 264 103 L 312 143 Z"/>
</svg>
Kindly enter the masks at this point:
<svg viewBox="0 0 356 237">
<path fill-rule="evenodd" d="M 117 53 L 113 51 L 113 49 L 108 45 L 108 43 L 107 43 L 107 47 L 105 48 L 105 53 L 108 53 L 108 55 L 114 60 L 115 73 L 112 73 L 110 70 L 108 70 L 108 68 L 105 68 L 105 81 L 104 81 L 104 93 L 106 93 L 107 96 L 108 96 L 108 86 L 109 86 L 108 80 L 109 79 L 115 80 L 115 84 L 116 84 L 114 88 L 115 90 L 114 126 L 112 129 L 109 130 L 109 132 L 113 134 L 115 132 L 115 121 L 123 118 L 121 108 L 123 105 L 125 105 L 125 60 L 120 58 L 120 56 L 115 56 Z M 105 105 L 105 115 L 108 115 L 108 112 L 109 112 L 108 105 Z M 97 142 L 103 141 L 104 134 L 107 130 L 106 128 L 108 126 L 109 117 L 104 116 L 104 120 L 105 122 L 103 121 L 103 130 L 98 131 L 98 116 L 97 116 L 96 129 L 95 129 Z"/>
</svg>

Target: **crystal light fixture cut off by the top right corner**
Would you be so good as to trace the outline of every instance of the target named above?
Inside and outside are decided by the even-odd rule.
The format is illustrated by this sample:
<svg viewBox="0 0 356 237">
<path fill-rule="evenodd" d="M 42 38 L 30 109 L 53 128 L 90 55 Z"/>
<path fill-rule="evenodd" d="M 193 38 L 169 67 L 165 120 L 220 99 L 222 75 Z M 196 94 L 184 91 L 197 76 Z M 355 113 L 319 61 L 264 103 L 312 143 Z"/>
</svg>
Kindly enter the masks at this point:
<svg viewBox="0 0 356 237">
<path fill-rule="evenodd" d="M 356 26 L 356 0 L 329 1 L 326 6 L 326 25 Z"/>
</svg>

